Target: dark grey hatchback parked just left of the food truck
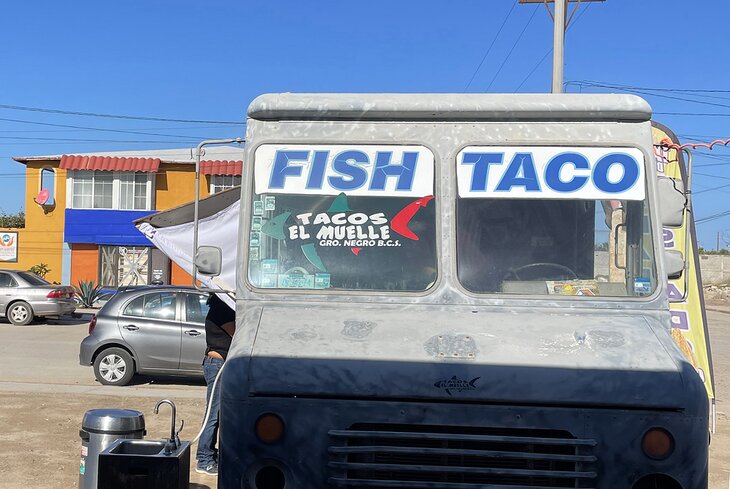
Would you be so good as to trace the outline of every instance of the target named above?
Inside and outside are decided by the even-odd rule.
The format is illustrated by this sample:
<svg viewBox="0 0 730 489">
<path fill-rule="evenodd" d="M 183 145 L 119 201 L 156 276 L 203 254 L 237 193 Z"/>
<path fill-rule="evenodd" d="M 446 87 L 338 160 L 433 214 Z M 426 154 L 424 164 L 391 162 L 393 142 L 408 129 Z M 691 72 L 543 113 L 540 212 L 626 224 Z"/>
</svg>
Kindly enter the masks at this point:
<svg viewBox="0 0 730 489">
<path fill-rule="evenodd" d="M 192 287 L 120 290 L 89 323 L 79 362 L 105 385 L 135 373 L 202 376 L 207 300 Z"/>
</svg>

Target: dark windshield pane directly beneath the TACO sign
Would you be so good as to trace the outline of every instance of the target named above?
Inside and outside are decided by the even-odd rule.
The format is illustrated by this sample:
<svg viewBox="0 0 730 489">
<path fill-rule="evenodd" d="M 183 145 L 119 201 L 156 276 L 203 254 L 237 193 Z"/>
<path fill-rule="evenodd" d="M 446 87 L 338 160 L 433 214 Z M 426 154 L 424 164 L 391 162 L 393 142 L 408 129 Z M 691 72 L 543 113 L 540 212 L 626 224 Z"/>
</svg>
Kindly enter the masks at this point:
<svg viewBox="0 0 730 489">
<path fill-rule="evenodd" d="M 461 198 L 457 264 L 475 293 L 646 296 L 656 267 L 645 200 Z"/>
</svg>

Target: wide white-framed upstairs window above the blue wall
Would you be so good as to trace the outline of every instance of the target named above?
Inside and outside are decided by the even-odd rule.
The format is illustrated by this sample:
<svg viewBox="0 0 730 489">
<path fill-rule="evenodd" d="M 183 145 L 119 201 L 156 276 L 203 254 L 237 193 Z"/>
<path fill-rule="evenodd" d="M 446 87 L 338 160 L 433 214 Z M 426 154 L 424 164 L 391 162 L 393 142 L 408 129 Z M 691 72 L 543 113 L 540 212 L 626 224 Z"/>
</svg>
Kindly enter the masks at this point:
<svg viewBox="0 0 730 489">
<path fill-rule="evenodd" d="M 147 173 L 78 170 L 69 172 L 72 209 L 152 209 Z"/>
</svg>

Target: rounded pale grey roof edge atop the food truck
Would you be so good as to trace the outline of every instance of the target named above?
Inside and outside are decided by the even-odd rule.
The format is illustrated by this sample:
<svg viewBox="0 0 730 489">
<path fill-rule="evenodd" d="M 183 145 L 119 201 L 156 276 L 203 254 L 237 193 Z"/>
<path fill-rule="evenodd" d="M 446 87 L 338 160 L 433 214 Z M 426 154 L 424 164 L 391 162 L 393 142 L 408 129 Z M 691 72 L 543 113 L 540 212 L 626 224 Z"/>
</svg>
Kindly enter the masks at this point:
<svg viewBox="0 0 730 489">
<path fill-rule="evenodd" d="M 651 119 L 649 104 L 626 94 L 270 93 L 248 116 L 262 121 L 626 121 Z"/>
</svg>

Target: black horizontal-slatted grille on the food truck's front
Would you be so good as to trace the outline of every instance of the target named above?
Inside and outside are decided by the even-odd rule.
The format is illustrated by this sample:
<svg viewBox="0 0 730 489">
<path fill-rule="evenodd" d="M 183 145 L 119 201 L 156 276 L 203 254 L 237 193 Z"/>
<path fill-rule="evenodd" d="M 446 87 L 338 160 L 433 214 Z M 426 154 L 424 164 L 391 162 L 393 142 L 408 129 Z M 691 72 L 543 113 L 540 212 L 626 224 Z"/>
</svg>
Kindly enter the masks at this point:
<svg viewBox="0 0 730 489">
<path fill-rule="evenodd" d="M 595 487 L 596 442 L 567 431 L 354 424 L 329 436 L 337 487 Z"/>
</svg>

